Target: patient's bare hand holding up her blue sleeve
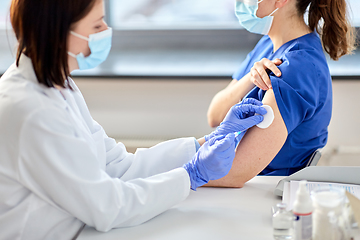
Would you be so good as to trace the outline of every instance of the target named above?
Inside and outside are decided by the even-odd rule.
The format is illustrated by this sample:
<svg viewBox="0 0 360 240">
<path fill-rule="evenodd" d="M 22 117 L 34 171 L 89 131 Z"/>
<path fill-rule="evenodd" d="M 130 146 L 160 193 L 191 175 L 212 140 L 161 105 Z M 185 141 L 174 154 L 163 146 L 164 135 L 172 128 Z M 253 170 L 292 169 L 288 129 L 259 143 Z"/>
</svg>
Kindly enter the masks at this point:
<svg viewBox="0 0 360 240">
<path fill-rule="evenodd" d="M 268 71 L 273 72 L 277 77 L 281 76 L 280 70 L 277 68 L 282 63 L 280 59 L 270 61 L 267 58 L 256 62 L 250 70 L 250 81 L 262 90 L 269 90 L 272 88 Z"/>
</svg>

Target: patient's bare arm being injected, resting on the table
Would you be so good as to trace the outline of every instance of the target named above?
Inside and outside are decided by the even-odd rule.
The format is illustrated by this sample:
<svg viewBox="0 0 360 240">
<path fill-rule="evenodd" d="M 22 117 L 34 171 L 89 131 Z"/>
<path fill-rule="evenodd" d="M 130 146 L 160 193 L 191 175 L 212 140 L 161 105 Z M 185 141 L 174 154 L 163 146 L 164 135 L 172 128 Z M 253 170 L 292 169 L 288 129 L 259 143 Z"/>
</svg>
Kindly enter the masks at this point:
<svg viewBox="0 0 360 240">
<path fill-rule="evenodd" d="M 256 126 L 249 129 L 236 149 L 229 174 L 211 181 L 208 186 L 242 187 L 245 182 L 259 174 L 284 145 L 288 132 L 272 89 L 266 92 L 263 103 L 274 110 L 273 123 L 266 129 Z"/>
</svg>

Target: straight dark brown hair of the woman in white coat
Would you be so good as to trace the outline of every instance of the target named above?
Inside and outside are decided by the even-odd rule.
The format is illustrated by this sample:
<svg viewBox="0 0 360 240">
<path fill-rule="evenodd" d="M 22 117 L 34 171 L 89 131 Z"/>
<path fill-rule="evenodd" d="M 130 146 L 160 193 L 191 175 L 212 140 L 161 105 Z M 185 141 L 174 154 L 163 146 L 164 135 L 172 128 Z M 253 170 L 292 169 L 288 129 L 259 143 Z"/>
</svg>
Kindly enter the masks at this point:
<svg viewBox="0 0 360 240">
<path fill-rule="evenodd" d="M 31 59 L 39 83 L 66 87 L 70 76 L 67 53 L 70 28 L 91 11 L 96 1 L 12 0 L 10 21 L 19 44 L 16 65 L 19 66 L 24 53 Z"/>
</svg>

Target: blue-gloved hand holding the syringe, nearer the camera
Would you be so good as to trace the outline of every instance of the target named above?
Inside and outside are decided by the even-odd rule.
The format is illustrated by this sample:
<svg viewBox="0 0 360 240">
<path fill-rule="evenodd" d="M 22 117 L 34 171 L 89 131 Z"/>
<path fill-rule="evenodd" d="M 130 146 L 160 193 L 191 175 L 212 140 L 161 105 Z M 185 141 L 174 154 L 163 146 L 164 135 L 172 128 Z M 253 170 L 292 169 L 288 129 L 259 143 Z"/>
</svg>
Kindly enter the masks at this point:
<svg viewBox="0 0 360 240">
<path fill-rule="evenodd" d="M 190 176 L 192 190 L 229 173 L 235 157 L 234 140 L 234 133 L 210 139 L 183 166 Z"/>
</svg>

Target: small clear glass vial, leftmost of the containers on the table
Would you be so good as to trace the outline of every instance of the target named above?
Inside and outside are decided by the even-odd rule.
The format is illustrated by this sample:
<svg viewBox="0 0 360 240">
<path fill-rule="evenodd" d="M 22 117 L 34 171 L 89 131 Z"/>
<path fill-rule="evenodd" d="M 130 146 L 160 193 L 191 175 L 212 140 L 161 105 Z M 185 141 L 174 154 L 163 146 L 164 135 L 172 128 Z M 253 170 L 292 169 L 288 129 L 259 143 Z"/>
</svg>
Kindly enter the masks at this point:
<svg viewBox="0 0 360 240">
<path fill-rule="evenodd" d="M 272 218 L 273 234 L 277 240 L 293 238 L 293 219 L 294 215 L 286 210 L 285 203 L 278 203 L 277 211 Z"/>
</svg>

